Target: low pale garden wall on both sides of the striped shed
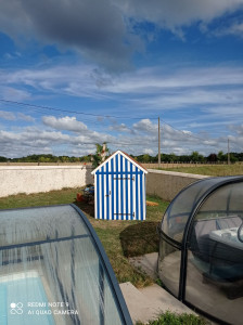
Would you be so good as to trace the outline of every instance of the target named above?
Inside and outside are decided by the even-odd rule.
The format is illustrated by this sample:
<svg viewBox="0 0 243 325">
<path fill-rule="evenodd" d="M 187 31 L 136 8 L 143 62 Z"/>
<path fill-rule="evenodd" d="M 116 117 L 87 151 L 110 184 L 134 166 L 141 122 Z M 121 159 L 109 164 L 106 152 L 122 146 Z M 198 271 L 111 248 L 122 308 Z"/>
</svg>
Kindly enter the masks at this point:
<svg viewBox="0 0 243 325">
<path fill-rule="evenodd" d="M 0 166 L 0 197 L 93 183 L 90 166 Z M 171 200 L 184 186 L 207 177 L 149 169 L 146 194 Z"/>
</svg>

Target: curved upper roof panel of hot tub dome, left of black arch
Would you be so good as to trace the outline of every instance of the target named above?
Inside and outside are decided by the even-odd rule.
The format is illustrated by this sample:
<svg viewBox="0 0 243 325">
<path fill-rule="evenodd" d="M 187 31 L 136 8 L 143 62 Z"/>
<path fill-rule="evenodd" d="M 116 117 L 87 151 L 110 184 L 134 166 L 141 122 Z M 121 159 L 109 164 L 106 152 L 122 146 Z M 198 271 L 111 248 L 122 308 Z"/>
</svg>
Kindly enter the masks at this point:
<svg viewBox="0 0 243 325">
<path fill-rule="evenodd" d="M 208 178 L 190 184 L 174 198 L 167 208 L 161 224 L 162 232 L 177 242 L 177 244 L 181 244 L 190 221 L 195 217 L 197 207 L 202 205 L 205 198 L 215 190 L 239 181 L 243 181 L 243 177 Z M 234 200 L 235 197 L 234 195 Z M 217 204 L 221 209 L 227 209 L 226 205 L 229 205 L 228 198 L 229 193 L 225 194 L 225 196 L 214 197 L 213 204 Z"/>
</svg>

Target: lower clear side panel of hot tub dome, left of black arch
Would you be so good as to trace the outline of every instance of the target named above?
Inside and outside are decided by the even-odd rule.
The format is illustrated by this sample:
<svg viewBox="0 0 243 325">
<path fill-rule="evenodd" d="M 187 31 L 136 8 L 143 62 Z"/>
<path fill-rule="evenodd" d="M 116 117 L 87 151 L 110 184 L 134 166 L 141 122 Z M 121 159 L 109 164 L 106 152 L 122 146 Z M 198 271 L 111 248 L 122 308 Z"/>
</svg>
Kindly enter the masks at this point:
<svg viewBox="0 0 243 325">
<path fill-rule="evenodd" d="M 179 294 L 181 251 L 161 238 L 158 255 L 158 276 L 163 284 L 176 296 Z"/>
</svg>

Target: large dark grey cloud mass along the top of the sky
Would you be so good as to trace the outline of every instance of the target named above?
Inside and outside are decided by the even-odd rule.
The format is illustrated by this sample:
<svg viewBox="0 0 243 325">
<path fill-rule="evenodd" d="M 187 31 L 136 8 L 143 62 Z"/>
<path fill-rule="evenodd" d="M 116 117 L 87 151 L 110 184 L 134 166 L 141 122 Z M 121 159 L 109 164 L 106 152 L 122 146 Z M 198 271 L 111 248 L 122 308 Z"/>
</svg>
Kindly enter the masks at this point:
<svg viewBox="0 0 243 325">
<path fill-rule="evenodd" d="M 183 38 L 183 26 L 199 22 L 206 30 L 208 22 L 242 4 L 243 0 L 0 0 L 0 30 L 17 42 L 35 39 L 61 51 L 77 50 L 110 70 L 123 70 L 130 67 L 136 51 L 144 51 L 144 30 L 133 30 L 138 23 L 151 22 Z M 151 32 L 145 39 L 153 39 Z"/>
</svg>

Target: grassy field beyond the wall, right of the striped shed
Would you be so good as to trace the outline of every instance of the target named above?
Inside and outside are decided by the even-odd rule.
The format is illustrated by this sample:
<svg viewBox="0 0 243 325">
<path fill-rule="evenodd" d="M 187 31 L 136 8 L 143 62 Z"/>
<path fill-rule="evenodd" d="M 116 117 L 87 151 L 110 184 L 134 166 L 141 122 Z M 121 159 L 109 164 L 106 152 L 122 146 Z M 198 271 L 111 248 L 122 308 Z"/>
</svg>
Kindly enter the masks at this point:
<svg viewBox="0 0 243 325">
<path fill-rule="evenodd" d="M 187 173 L 196 173 L 212 177 L 243 174 L 243 165 L 216 165 L 216 166 L 199 166 L 199 167 L 176 167 L 164 168 L 166 171 L 179 171 Z"/>
</svg>

